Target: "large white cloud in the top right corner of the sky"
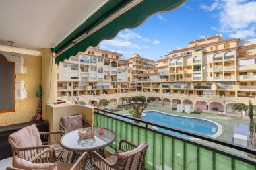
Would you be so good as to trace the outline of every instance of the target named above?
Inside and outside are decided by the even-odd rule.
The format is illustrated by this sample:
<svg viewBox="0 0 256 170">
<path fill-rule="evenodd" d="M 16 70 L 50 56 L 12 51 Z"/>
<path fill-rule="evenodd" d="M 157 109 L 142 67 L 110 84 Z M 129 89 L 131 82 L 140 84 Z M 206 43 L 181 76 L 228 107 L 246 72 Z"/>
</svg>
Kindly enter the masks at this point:
<svg viewBox="0 0 256 170">
<path fill-rule="evenodd" d="M 234 38 L 255 36 L 256 1 L 215 0 L 211 5 L 201 5 L 201 8 L 205 11 L 216 10 L 219 13 L 219 26 L 212 27 L 213 30 Z"/>
</svg>

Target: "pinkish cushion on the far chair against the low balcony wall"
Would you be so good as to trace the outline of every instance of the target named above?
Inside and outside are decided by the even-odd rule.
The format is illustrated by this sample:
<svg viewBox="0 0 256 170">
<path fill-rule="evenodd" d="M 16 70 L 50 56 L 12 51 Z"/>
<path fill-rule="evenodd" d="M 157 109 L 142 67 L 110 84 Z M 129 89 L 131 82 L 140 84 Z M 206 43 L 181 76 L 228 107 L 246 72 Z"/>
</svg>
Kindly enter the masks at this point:
<svg viewBox="0 0 256 170">
<path fill-rule="evenodd" d="M 66 132 L 70 132 L 75 129 L 83 128 L 83 116 L 82 114 L 63 116 L 61 118 L 62 125 L 65 127 Z"/>
</svg>

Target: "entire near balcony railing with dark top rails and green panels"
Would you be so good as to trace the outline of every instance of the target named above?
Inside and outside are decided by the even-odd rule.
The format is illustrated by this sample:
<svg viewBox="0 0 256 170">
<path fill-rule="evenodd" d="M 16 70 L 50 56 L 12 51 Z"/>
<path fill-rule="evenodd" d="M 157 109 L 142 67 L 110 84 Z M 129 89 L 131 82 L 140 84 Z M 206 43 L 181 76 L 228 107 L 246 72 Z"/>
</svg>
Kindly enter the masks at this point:
<svg viewBox="0 0 256 170">
<path fill-rule="evenodd" d="M 115 132 L 115 141 L 110 147 L 117 150 L 123 138 L 137 145 L 146 141 L 149 148 L 145 157 L 145 169 L 239 169 L 255 170 L 255 159 L 233 153 L 238 150 L 256 155 L 247 148 L 224 140 L 195 134 L 96 108 L 94 124 Z M 127 121 L 129 120 L 129 121 Z M 138 123 L 135 123 L 138 122 Z M 152 128 L 156 127 L 156 128 Z M 164 129 L 164 130 L 158 130 Z M 199 138 L 191 140 L 184 136 Z M 209 144 L 205 144 L 205 143 Z M 211 145 L 210 145 L 211 144 Z M 226 148 L 226 150 L 224 150 Z"/>
</svg>

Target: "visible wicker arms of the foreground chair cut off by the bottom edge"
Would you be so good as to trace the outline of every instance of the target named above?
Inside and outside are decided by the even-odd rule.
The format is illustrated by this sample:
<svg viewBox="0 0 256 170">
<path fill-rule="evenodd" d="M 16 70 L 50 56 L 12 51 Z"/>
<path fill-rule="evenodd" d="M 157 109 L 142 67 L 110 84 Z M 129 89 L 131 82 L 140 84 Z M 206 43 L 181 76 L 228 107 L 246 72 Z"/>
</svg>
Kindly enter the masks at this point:
<svg viewBox="0 0 256 170">
<path fill-rule="evenodd" d="M 53 155 L 53 150 L 51 148 L 46 148 L 42 153 L 38 154 L 34 159 L 31 159 L 31 163 L 54 163 L 53 160 L 49 159 L 49 155 Z M 83 153 L 81 157 L 73 163 L 60 163 L 57 162 L 57 169 L 59 170 L 82 170 L 86 166 L 88 158 L 88 153 Z M 7 167 L 6 170 L 23 170 L 15 167 Z"/>
</svg>

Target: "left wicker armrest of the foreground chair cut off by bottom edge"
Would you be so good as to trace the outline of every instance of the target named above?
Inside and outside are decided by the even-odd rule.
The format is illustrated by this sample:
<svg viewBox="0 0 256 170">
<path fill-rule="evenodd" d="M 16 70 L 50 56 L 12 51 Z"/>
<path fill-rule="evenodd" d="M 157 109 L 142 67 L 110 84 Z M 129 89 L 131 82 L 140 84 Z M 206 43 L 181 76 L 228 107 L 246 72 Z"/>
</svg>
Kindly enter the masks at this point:
<svg viewBox="0 0 256 170">
<path fill-rule="evenodd" d="M 54 154 L 55 151 L 53 148 L 49 147 L 44 149 L 41 153 L 36 155 L 33 159 L 30 159 L 30 162 L 32 163 L 54 163 L 55 157 Z"/>
</svg>

